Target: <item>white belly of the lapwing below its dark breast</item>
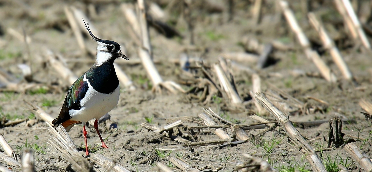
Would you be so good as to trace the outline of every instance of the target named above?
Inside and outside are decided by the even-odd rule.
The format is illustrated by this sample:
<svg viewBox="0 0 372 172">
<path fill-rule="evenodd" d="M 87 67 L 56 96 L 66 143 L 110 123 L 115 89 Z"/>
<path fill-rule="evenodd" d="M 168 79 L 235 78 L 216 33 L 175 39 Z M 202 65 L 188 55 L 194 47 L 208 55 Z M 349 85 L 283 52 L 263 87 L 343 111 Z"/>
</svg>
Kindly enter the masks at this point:
<svg viewBox="0 0 372 172">
<path fill-rule="evenodd" d="M 114 92 L 103 94 L 95 91 L 89 82 L 88 85 L 89 89 L 87 90 L 85 97 L 80 101 L 80 110 L 68 111 L 71 120 L 81 121 L 83 124 L 90 119 L 101 118 L 103 115 L 115 108 L 119 102 L 119 86 Z"/>
</svg>

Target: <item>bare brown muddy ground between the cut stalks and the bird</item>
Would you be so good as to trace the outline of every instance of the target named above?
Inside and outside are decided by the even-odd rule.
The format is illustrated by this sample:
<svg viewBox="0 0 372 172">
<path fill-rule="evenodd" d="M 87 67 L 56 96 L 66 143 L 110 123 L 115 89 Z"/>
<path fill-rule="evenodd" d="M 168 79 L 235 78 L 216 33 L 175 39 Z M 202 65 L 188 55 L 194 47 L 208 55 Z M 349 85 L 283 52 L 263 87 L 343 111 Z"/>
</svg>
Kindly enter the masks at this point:
<svg viewBox="0 0 372 172">
<path fill-rule="evenodd" d="M 182 69 L 174 64 L 171 59 L 179 59 L 184 50 L 189 47 L 190 32 L 187 24 L 177 11 L 167 9 L 168 1 L 155 1 L 160 4 L 167 13 L 167 23 L 176 28 L 182 37 L 166 38 L 163 34 L 150 27 L 151 44 L 153 46 L 154 60 L 160 61 L 156 64 L 160 75 L 164 80 L 171 80 L 182 83 L 180 74 Z M 294 75 L 295 70 L 305 73 L 318 73 L 315 65 L 305 57 L 294 33 L 288 27 L 288 23 L 275 5 L 274 0 L 266 0 L 262 7 L 262 17 L 259 25 L 255 25 L 252 19 L 251 1 L 234 1 L 234 13 L 229 21 L 227 1 L 212 1 L 222 8 L 220 12 L 205 10 L 200 5 L 192 9 L 194 29 L 193 48 L 187 53 L 190 57 L 202 57 L 208 64 L 218 60 L 221 53 L 245 52 L 243 37 L 255 38 L 260 43 L 270 43 L 272 40 L 279 40 L 289 45 L 292 50 L 274 50 L 270 55 L 270 62 L 262 70 L 257 70 L 262 81 L 262 90 L 270 90 L 269 84 L 287 92 L 289 95 L 308 104 L 307 107 L 317 107 L 318 110 L 310 113 L 295 112 L 289 115 L 291 121 L 315 121 L 330 119 L 335 113 L 344 115 L 353 122 L 344 122 L 342 132 L 347 135 L 359 137 L 351 140 L 359 146 L 367 156 L 372 157 L 371 151 L 371 122 L 366 121 L 364 115 L 360 114 L 362 109 L 358 105 L 364 98 L 371 101 L 371 52 L 349 36 L 344 30 L 342 17 L 338 14 L 332 1 L 311 1 L 307 4 L 307 10 L 314 11 L 320 15 L 327 28 L 334 29 L 331 37 L 336 40 L 347 65 L 353 73 L 354 80 L 342 79 L 342 75 L 333 63 L 330 54 L 321 47 L 317 33 L 308 23 L 304 13 L 304 4 L 291 0 L 291 8 L 294 10 L 300 26 L 310 38 L 312 48 L 321 54 L 321 58 L 330 66 L 339 80 L 334 83 L 327 82 L 322 77 L 309 75 Z M 0 67 L 2 70 L 22 80 L 22 72 L 17 64 L 27 63 L 31 58 L 33 70 L 33 83 L 41 85 L 53 85 L 58 89 L 37 88 L 32 91 L 2 91 L 0 92 L 0 113 L 1 118 L 14 120 L 16 118 L 33 119 L 31 107 L 25 103 L 36 104 L 53 117 L 57 117 L 60 107 L 64 101 L 66 91 L 70 85 L 61 79 L 57 72 L 47 63 L 43 53 L 45 48 L 56 54 L 61 54 L 65 59 L 92 59 L 89 55 L 81 55 L 80 48 L 67 18 L 64 14 L 65 5 L 73 5 L 88 14 L 92 24 L 100 31 L 100 37 L 117 41 L 125 47 L 126 56 L 130 60 L 138 59 L 136 45 L 128 32 L 129 23 L 125 20 L 120 9 L 121 1 L 0 1 Z M 133 3 L 128 1 L 128 3 Z M 87 6 L 93 4 L 97 16 L 87 12 Z M 182 4 L 182 3 L 181 3 Z M 370 6 L 368 1 L 360 1 L 359 9 Z M 305 5 L 306 7 L 306 5 Z M 369 9 L 371 9 L 369 7 Z M 168 10 L 168 11 L 167 11 Z M 370 10 L 369 10 L 370 11 Z M 363 16 L 364 13 L 359 13 Z M 279 16 L 279 17 L 278 17 Z M 369 14 L 368 14 L 369 16 Z M 367 27 L 371 24 L 368 20 L 364 23 Z M 19 39 L 9 34 L 8 28 L 14 28 L 31 37 L 32 41 L 26 47 Z M 369 38 L 371 38 L 368 35 Z M 86 46 L 94 49 L 96 43 L 89 37 L 84 37 Z M 254 52 L 253 52 L 254 53 Z M 30 57 L 31 56 L 31 57 Z M 80 76 L 92 66 L 92 61 L 80 61 L 78 63 L 68 62 L 67 66 Z M 255 68 L 256 64 L 240 63 L 244 66 Z M 187 94 L 172 94 L 163 90 L 161 94 L 151 92 L 151 82 L 147 77 L 142 65 L 121 65 L 122 69 L 131 76 L 137 90 L 129 91 L 122 88 L 118 106 L 109 114 L 110 121 L 117 124 L 116 129 L 108 131 L 100 124 L 102 135 L 106 138 L 106 144 L 110 149 L 99 149 L 100 141 L 90 125 L 88 128 L 88 144 L 92 145 L 92 152 L 99 152 L 121 164 L 130 171 L 158 171 L 156 162 L 162 162 L 171 167 L 174 171 L 180 171 L 171 164 L 167 155 L 181 156 L 187 163 L 195 168 L 208 165 L 207 169 L 215 171 L 232 171 L 236 161 L 244 162 L 243 154 L 263 158 L 270 165 L 279 171 L 310 170 L 310 163 L 307 162 L 303 151 L 299 147 L 289 144 L 291 140 L 285 135 L 283 128 L 276 128 L 266 132 L 260 138 L 252 139 L 244 144 L 213 148 L 216 145 L 184 146 L 185 143 L 175 141 L 167 136 L 155 134 L 153 131 L 141 127 L 141 122 L 151 122 L 155 126 L 164 126 L 173 122 L 174 117 L 189 117 L 193 121 L 184 121 L 183 125 L 196 126 L 200 119 L 197 115 L 203 107 L 211 107 L 221 117 L 236 124 L 252 124 L 249 115 L 257 112 L 251 102 L 250 91 L 252 90 L 251 73 L 232 68 L 237 91 L 241 98 L 246 101 L 239 108 L 233 108 L 227 98 L 221 98 L 220 94 L 214 96 L 207 104 L 190 100 Z M 200 72 L 200 71 L 199 71 Z M 26 81 L 22 81 L 26 82 Z M 182 85 L 185 90 L 192 86 Z M 308 99 L 314 97 L 321 102 Z M 269 121 L 275 121 L 271 115 L 261 115 Z M 172 119 L 169 119 L 172 118 Z M 201 125 L 201 124 L 199 124 Z M 342 148 L 327 149 L 328 123 L 314 127 L 297 128 L 301 134 L 308 139 L 325 166 L 339 163 L 349 171 L 359 171 L 359 164 L 355 162 Z M 82 125 L 76 125 L 68 132 L 78 147 L 84 148 Z M 256 135 L 264 129 L 246 130 L 249 135 Z M 196 130 L 195 130 L 196 131 Z M 204 129 L 198 132 L 198 141 L 218 139 L 212 129 Z M 32 127 L 25 127 L 25 122 L 14 127 L 0 128 L 0 133 L 5 137 L 13 149 L 22 153 L 22 149 L 31 147 L 35 150 L 35 166 L 37 171 L 65 171 L 68 162 L 60 158 L 58 152 L 50 148 L 46 142 L 51 137 L 44 122 L 38 122 Z M 283 138 L 283 139 L 281 139 Z M 345 141 L 350 141 L 344 136 Z M 93 148 L 95 147 L 95 148 Z M 267 149 L 269 147 L 269 149 Z M 98 148 L 98 149 L 97 149 Z M 1 151 L 3 151 L 0 148 Z M 156 154 L 155 150 L 160 150 Z M 164 150 L 164 151 L 163 151 Z M 83 149 L 80 151 L 84 155 Z M 153 156 L 156 155 L 156 156 Z M 150 158 L 151 157 L 151 158 Z M 150 160 L 146 160 L 146 159 Z M 347 161 L 347 162 L 346 162 Z M 2 165 L 6 163 L 0 161 Z M 142 163 L 140 163 L 142 162 Z M 14 171 L 20 169 L 12 167 Z M 218 169 L 218 170 L 217 170 Z M 102 169 L 97 168 L 97 171 Z M 329 171 L 338 171 L 330 168 Z"/>
</svg>

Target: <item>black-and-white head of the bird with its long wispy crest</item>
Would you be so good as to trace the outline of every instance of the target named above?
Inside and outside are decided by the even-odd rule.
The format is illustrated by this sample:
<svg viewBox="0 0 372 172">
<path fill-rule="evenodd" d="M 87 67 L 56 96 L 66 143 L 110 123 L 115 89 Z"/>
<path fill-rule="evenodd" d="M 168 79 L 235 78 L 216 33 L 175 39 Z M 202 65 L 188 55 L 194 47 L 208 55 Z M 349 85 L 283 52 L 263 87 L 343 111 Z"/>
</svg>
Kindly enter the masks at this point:
<svg viewBox="0 0 372 172">
<path fill-rule="evenodd" d="M 90 31 L 89 24 L 86 24 L 85 21 L 84 24 L 90 36 L 92 36 L 92 39 L 97 42 L 97 66 L 102 65 L 107 61 L 113 63 L 113 61 L 119 57 L 124 58 L 125 60 L 129 60 L 129 58 L 121 52 L 120 45 L 118 43 L 116 43 L 115 41 L 102 40 L 100 38 L 97 38 L 93 35 L 92 31 Z"/>
</svg>

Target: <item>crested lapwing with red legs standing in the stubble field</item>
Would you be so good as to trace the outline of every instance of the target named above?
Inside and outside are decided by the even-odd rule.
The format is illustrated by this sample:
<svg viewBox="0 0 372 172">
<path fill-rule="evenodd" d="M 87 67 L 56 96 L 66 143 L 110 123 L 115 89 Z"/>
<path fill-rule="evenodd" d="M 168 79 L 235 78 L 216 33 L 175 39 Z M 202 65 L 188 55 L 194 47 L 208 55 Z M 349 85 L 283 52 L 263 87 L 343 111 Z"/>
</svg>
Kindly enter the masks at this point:
<svg viewBox="0 0 372 172">
<path fill-rule="evenodd" d="M 67 131 L 75 124 L 83 123 L 86 156 L 89 156 L 85 124 L 91 119 L 103 148 L 108 148 L 98 130 L 98 119 L 118 105 L 119 80 L 116 76 L 116 58 L 129 60 L 115 41 L 102 40 L 93 35 L 89 24 L 85 23 L 92 40 L 97 42 L 96 61 L 93 66 L 71 85 L 63 102 L 60 114 L 52 121 L 54 126 L 62 125 Z"/>
</svg>

